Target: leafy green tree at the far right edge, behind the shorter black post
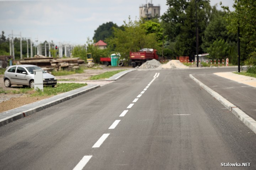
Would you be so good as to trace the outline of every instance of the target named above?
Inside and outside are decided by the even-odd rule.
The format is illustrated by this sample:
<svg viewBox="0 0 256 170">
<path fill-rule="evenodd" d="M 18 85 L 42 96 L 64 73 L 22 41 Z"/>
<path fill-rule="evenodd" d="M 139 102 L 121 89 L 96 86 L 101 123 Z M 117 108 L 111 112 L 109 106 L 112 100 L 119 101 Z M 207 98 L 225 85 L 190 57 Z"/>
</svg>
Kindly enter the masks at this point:
<svg viewBox="0 0 256 170">
<path fill-rule="evenodd" d="M 233 7 L 235 11 L 230 11 L 229 7 L 222 6 L 225 11 L 225 19 L 228 23 L 227 28 L 230 33 L 237 34 L 239 23 L 241 62 L 246 59 L 248 61 L 254 61 L 256 51 L 256 1 L 235 0 Z M 251 64 L 253 63 L 251 62 Z"/>
</svg>

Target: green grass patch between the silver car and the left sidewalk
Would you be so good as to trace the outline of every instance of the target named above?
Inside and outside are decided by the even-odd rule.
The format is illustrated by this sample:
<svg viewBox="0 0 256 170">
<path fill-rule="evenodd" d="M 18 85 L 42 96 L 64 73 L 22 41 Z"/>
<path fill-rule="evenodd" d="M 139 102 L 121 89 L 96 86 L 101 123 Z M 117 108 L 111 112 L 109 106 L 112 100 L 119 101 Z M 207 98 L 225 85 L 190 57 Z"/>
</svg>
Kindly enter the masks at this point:
<svg viewBox="0 0 256 170">
<path fill-rule="evenodd" d="M 55 87 L 46 86 L 42 90 L 37 90 L 31 96 L 52 96 L 52 95 L 58 95 L 60 93 L 68 92 L 71 90 L 78 89 L 80 87 L 87 86 L 86 83 L 80 84 L 80 83 L 57 83 Z"/>
</svg>

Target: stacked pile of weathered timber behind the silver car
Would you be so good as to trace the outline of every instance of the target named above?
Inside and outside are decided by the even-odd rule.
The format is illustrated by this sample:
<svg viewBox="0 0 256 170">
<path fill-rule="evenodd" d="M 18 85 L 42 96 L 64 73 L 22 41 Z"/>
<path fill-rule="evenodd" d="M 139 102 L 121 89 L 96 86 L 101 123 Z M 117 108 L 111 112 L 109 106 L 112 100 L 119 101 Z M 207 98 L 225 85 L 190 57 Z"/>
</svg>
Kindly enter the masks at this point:
<svg viewBox="0 0 256 170">
<path fill-rule="evenodd" d="M 21 64 L 36 65 L 47 71 L 78 69 L 80 64 L 85 63 L 84 60 L 80 58 L 53 58 L 42 55 L 35 56 L 34 58 L 24 58 L 24 60 L 20 62 Z"/>
</svg>

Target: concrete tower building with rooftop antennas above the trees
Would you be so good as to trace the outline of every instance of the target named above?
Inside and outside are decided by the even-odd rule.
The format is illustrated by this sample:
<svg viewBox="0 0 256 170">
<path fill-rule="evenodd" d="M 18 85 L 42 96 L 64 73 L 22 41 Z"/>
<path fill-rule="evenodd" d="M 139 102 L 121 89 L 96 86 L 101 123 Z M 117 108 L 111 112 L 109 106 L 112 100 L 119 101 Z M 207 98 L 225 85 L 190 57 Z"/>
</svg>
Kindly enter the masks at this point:
<svg viewBox="0 0 256 170">
<path fill-rule="evenodd" d="M 139 16 L 140 18 L 160 17 L 160 5 L 154 6 L 152 0 L 151 3 L 146 1 L 146 4 L 139 7 Z"/>
</svg>

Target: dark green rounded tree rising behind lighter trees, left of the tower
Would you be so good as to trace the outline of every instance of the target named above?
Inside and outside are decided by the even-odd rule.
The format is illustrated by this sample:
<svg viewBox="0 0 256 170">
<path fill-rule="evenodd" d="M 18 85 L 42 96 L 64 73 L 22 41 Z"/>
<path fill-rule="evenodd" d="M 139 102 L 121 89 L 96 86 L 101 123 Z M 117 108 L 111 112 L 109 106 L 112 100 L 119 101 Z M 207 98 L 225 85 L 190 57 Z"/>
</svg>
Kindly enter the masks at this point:
<svg viewBox="0 0 256 170">
<path fill-rule="evenodd" d="M 114 24 L 113 22 L 107 22 L 100 25 L 94 31 L 93 39 L 97 42 L 99 40 L 104 41 L 106 38 L 111 37 L 113 35 L 113 27 L 118 28 L 117 24 Z"/>
</svg>

